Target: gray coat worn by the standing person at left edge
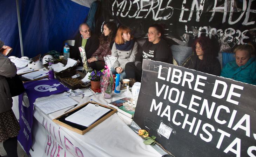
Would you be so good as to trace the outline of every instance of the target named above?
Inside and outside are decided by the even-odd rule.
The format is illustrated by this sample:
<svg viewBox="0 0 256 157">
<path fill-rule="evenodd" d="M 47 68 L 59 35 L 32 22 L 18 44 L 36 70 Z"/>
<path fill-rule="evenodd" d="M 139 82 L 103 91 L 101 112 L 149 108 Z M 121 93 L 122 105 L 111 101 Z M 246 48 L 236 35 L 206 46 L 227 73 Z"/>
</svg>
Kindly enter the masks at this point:
<svg viewBox="0 0 256 157">
<path fill-rule="evenodd" d="M 12 109 L 12 96 L 6 77 L 14 77 L 17 69 L 9 58 L 0 54 L 0 113 Z"/>
</svg>

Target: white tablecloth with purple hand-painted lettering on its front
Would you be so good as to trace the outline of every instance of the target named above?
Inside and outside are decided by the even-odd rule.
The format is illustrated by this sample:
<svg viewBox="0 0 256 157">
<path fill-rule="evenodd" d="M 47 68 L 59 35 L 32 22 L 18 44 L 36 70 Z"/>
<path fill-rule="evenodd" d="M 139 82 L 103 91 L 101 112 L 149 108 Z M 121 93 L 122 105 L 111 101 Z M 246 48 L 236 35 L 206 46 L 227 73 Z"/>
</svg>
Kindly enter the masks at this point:
<svg viewBox="0 0 256 157">
<path fill-rule="evenodd" d="M 72 98 L 80 102 L 78 106 L 90 101 L 90 99 L 93 99 L 97 103 L 107 105 L 107 103 L 120 99 L 122 96 L 121 94 L 114 94 L 111 99 L 103 99 L 103 95 L 94 94 L 90 97 L 85 96 L 83 99 L 81 97 Z M 13 111 L 16 117 L 19 117 L 18 97 L 13 97 L 13 99 Z M 36 101 L 42 99 L 44 98 L 38 98 Z M 67 109 L 46 115 L 35 107 L 32 131 L 33 150 L 31 149 L 29 151 L 32 157 L 58 155 L 66 157 L 157 157 L 165 154 L 160 149 L 156 151 L 150 145 L 145 145 L 143 139 L 130 129 L 116 113 L 84 135 L 55 124 L 52 119 L 59 117 Z"/>
</svg>

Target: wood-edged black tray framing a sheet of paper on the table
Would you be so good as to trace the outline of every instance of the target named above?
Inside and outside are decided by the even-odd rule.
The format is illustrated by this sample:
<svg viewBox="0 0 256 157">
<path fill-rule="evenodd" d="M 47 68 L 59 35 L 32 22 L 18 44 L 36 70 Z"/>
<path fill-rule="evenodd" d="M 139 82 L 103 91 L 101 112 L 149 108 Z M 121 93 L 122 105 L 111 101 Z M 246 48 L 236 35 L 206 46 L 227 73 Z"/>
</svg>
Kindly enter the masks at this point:
<svg viewBox="0 0 256 157">
<path fill-rule="evenodd" d="M 72 115 L 73 113 L 81 110 L 83 107 L 85 107 L 89 103 L 92 103 L 92 104 L 95 104 L 95 105 L 98 105 L 98 106 L 101 106 L 101 107 L 105 107 L 107 109 L 110 109 L 110 111 L 108 111 L 106 114 L 102 115 L 98 120 L 96 120 L 89 127 L 82 126 L 82 125 L 79 125 L 79 124 L 75 124 L 73 122 L 65 120 L 65 118 L 67 118 L 69 115 Z M 64 114 L 60 115 L 59 117 L 53 119 L 53 121 L 56 124 L 59 124 L 59 125 L 65 127 L 65 128 L 68 128 L 68 129 L 70 129 L 70 130 L 72 130 L 76 133 L 79 133 L 79 134 L 83 135 L 86 132 L 88 132 L 90 129 L 94 128 L 96 125 L 100 124 L 102 121 L 104 121 L 105 119 L 110 117 L 115 112 L 117 112 L 117 109 L 114 109 L 113 107 L 109 107 L 109 106 L 105 106 L 105 105 L 102 105 L 102 104 L 99 104 L 99 103 L 96 103 L 96 102 L 93 102 L 93 101 L 89 101 L 89 102 L 87 102 L 87 103 L 85 103 L 85 104 L 83 104 L 83 105 L 81 105 L 81 106 L 79 106 L 79 107 L 77 107 L 73 110 L 70 110 L 67 113 L 64 113 Z"/>
</svg>

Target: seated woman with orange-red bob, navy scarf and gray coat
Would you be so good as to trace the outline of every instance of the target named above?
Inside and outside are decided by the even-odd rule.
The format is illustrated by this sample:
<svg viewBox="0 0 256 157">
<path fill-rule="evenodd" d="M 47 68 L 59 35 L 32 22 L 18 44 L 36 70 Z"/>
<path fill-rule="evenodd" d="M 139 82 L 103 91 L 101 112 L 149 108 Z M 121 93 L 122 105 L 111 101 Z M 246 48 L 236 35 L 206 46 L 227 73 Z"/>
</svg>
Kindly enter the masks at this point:
<svg viewBox="0 0 256 157">
<path fill-rule="evenodd" d="M 131 30 L 126 26 L 120 26 L 112 47 L 112 55 L 117 57 L 117 60 L 111 68 L 113 74 L 120 74 L 120 81 L 126 78 L 124 72 L 126 63 L 134 62 L 137 52 L 138 44 L 134 41 Z"/>
</svg>

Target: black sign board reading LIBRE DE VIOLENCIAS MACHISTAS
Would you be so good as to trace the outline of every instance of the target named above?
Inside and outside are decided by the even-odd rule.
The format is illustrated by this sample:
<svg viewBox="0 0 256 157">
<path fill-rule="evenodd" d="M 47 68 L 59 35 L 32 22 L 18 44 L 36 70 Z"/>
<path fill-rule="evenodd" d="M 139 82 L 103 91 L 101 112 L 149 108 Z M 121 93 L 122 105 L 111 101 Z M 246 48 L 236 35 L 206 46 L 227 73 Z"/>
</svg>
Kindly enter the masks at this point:
<svg viewBox="0 0 256 157">
<path fill-rule="evenodd" d="M 134 121 L 175 156 L 256 156 L 256 86 L 143 60 Z"/>
</svg>

